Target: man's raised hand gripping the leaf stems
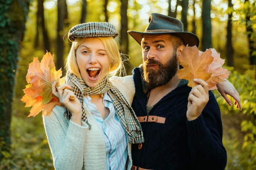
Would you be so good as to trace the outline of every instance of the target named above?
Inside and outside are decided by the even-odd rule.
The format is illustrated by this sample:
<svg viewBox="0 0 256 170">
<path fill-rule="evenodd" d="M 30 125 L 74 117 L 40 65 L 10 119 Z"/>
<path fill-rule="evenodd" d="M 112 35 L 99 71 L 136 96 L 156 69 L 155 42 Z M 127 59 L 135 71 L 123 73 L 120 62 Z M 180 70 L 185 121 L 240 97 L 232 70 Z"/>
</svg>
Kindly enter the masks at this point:
<svg viewBox="0 0 256 170">
<path fill-rule="evenodd" d="M 194 79 L 194 81 L 198 85 L 193 87 L 189 93 L 188 109 L 186 111 L 186 117 L 189 121 L 198 118 L 209 101 L 208 84 L 202 79 Z"/>
</svg>

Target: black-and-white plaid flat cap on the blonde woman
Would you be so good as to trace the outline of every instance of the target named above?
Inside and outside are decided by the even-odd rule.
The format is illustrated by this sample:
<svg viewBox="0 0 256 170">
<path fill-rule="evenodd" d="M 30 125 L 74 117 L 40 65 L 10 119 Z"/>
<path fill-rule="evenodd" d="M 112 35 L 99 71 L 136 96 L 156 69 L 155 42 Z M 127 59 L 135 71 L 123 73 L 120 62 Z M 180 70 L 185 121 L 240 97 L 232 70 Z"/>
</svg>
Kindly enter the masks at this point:
<svg viewBox="0 0 256 170">
<path fill-rule="evenodd" d="M 74 41 L 76 37 L 117 37 L 118 32 L 108 22 L 87 22 L 73 26 L 68 32 L 68 39 Z"/>
</svg>

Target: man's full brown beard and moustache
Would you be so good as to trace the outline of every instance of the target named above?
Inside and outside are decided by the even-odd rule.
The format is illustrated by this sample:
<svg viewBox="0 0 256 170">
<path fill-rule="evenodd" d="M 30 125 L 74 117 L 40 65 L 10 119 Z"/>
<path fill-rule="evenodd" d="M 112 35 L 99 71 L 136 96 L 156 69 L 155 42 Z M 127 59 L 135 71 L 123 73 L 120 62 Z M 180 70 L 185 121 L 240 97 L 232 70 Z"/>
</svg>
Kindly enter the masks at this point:
<svg viewBox="0 0 256 170">
<path fill-rule="evenodd" d="M 175 76 L 178 68 L 178 61 L 176 59 L 177 55 L 174 52 L 173 56 L 169 59 L 166 65 L 163 65 L 159 61 L 155 61 L 154 59 L 148 59 L 143 63 L 143 76 L 145 85 L 148 90 L 154 89 L 155 87 L 159 87 L 162 85 L 166 85 L 173 76 Z M 147 68 L 147 65 L 156 64 L 158 68 L 155 70 L 151 70 Z"/>
</svg>

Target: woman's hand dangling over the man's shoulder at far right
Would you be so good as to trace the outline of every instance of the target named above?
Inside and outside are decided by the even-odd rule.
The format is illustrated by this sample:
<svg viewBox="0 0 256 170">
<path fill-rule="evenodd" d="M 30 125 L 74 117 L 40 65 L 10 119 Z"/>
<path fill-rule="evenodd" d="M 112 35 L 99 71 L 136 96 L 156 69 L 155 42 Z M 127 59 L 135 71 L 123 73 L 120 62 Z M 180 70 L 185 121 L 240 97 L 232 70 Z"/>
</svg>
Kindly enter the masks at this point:
<svg viewBox="0 0 256 170">
<path fill-rule="evenodd" d="M 240 96 L 232 83 L 230 83 L 228 80 L 226 80 L 224 82 L 219 82 L 217 84 L 217 87 L 218 87 L 218 89 L 217 89 L 218 92 L 226 100 L 226 102 L 229 106 L 232 106 L 232 102 L 227 97 L 227 94 L 229 94 L 235 100 L 234 105 L 236 105 L 236 108 L 239 110 L 242 110 Z"/>
</svg>

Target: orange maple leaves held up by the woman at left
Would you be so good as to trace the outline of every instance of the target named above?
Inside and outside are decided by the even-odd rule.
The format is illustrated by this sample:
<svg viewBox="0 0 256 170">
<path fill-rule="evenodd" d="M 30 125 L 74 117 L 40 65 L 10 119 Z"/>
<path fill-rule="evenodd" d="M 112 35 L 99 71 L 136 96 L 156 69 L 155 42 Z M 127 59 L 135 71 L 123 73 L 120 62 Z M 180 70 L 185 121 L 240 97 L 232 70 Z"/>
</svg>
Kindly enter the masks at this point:
<svg viewBox="0 0 256 170">
<path fill-rule="evenodd" d="M 31 107 L 30 116 L 36 116 L 40 111 L 42 116 L 49 114 L 55 105 L 61 103 L 58 98 L 52 94 L 52 83 L 54 81 L 59 84 L 64 83 L 64 78 L 61 78 L 62 71 L 56 71 L 54 64 L 54 55 L 46 52 L 41 62 L 38 57 L 34 57 L 33 62 L 29 64 L 27 70 L 27 83 L 26 88 L 23 89 L 24 96 L 21 101 L 25 102 L 25 107 Z"/>
</svg>

